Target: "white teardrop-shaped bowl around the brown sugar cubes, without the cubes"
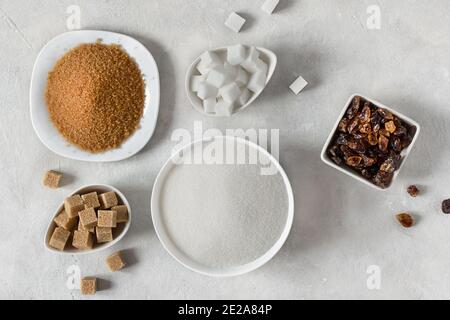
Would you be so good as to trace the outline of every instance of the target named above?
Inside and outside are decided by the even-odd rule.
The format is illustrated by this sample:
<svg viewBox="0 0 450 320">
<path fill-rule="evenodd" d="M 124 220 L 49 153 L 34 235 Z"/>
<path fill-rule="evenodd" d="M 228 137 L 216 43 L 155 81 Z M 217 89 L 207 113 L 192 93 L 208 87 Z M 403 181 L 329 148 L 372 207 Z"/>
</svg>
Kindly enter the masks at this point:
<svg viewBox="0 0 450 320">
<path fill-rule="evenodd" d="M 130 229 L 130 225 L 131 225 L 131 207 L 130 207 L 130 204 L 128 203 L 127 199 L 125 198 L 125 196 L 118 189 L 114 188 L 113 186 L 106 185 L 106 184 L 96 184 L 96 185 L 89 185 L 89 186 L 81 187 L 81 188 L 75 190 L 74 192 L 72 192 L 70 195 L 74 195 L 74 194 L 81 195 L 81 194 L 85 194 L 85 193 L 89 193 L 89 192 L 93 192 L 93 191 L 97 191 L 98 194 L 101 194 L 104 192 L 109 192 L 109 191 L 114 191 L 117 195 L 117 198 L 119 199 L 119 204 L 124 204 L 127 206 L 128 221 L 126 223 L 117 224 L 117 228 L 114 228 L 116 230 L 113 230 L 113 234 L 115 235 L 115 238 L 113 239 L 113 241 L 97 244 L 93 249 L 90 249 L 90 250 L 79 250 L 79 249 L 72 247 L 72 245 L 69 243 L 66 245 L 66 249 L 64 249 L 64 251 L 59 251 L 59 250 L 56 250 L 55 248 L 52 248 L 49 245 L 49 242 L 50 242 L 50 238 L 52 236 L 53 230 L 56 228 L 56 223 L 53 221 L 53 219 L 64 209 L 64 203 L 63 203 L 55 211 L 55 214 L 51 218 L 51 221 L 48 225 L 47 232 L 46 232 L 45 238 L 44 238 L 44 245 L 47 248 L 47 250 L 54 252 L 54 253 L 59 253 L 59 254 L 73 254 L 73 255 L 94 253 L 94 252 L 99 252 L 101 250 L 104 250 L 106 248 L 109 248 L 109 247 L 115 245 L 117 242 L 119 242 L 125 236 L 125 234 L 128 232 L 128 229 Z M 95 237 L 95 235 L 94 235 L 94 237 Z M 71 241 L 70 238 L 69 238 L 69 241 Z"/>
</svg>

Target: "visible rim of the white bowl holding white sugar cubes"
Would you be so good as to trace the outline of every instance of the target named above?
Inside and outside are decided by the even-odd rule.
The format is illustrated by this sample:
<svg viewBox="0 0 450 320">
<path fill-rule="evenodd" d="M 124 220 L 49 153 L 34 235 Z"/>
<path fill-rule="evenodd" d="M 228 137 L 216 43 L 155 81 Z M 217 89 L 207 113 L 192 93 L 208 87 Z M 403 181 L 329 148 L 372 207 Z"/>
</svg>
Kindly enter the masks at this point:
<svg viewBox="0 0 450 320">
<path fill-rule="evenodd" d="M 213 50 L 210 50 L 212 52 L 215 52 L 217 54 L 219 54 L 219 56 L 221 56 L 223 58 L 223 60 L 225 61 L 225 55 L 227 52 L 228 47 L 220 47 L 220 48 L 216 48 Z M 260 58 L 262 61 L 264 61 L 265 63 L 267 63 L 268 69 L 267 69 L 267 79 L 266 79 L 266 84 L 265 86 L 267 86 L 267 84 L 269 83 L 270 79 L 273 76 L 273 73 L 275 71 L 275 68 L 277 66 L 277 56 L 275 55 L 275 53 L 273 53 L 272 51 L 265 49 L 265 48 L 261 48 L 261 47 L 256 47 L 256 49 L 260 52 Z M 193 92 L 191 90 L 191 78 L 194 75 L 200 75 L 200 73 L 197 71 L 197 64 L 200 62 L 200 56 L 197 57 L 197 59 L 194 60 L 194 62 L 192 62 L 192 64 L 189 66 L 189 69 L 186 73 L 186 79 L 185 79 L 185 90 L 186 90 L 186 94 L 189 98 L 189 101 L 191 102 L 192 106 L 194 107 L 195 110 L 197 110 L 198 112 L 210 116 L 210 117 L 222 117 L 220 115 L 217 114 L 210 114 L 210 113 L 206 113 L 203 110 L 203 104 L 202 104 L 202 100 L 195 94 L 195 92 Z M 265 88 L 264 86 L 264 88 Z M 238 113 L 239 111 L 247 108 L 253 101 L 255 101 L 256 98 L 258 98 L 258 96 L 261 94 L 261 92 L 263 92 L 263 90 L 261 90 L 258 93 L 253 93 L 253 95 L 250 97 L 250 99 L 247 101 L 246 104 L 244 104 L 242 107 L 239 107 L 238 109 L 236 109 L 233 114 Z"/>
</svg>

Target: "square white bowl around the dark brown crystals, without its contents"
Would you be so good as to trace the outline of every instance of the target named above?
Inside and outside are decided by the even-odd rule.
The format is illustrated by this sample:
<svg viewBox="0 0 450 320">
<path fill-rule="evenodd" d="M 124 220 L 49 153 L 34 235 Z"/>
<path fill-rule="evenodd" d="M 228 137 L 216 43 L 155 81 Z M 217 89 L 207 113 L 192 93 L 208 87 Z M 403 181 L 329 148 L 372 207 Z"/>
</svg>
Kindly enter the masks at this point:
<svg viewBox="0 0 450 320">
<path fill-rule="evenodd" d="M 333 160 L 330 159 L 330 157 L 329 157 L 328 154 L 327 154 L 328 147 L 329 147 L 329 145 L 330 145 L 330 143 L 331 143 L 331 140 L 333 139 L 333 137 L 334 137 L 334 135 L 335 135 L 335 133 L 336 133 L 336 131 L 337 131 L 337 129 L 338 129 L 339 122 L 340 122 L 341 119 L 344 117 L 345 112 L 347 111 L 347 109 L 348 109 L 350 103 L 352 102 L 352 100 L 353 100 L 353 98 L 354 98 L 355 96 L 360 96 L 361 98 L 363 98 L 363 99 L 365 99 L 365 100 L 371 102 L 371 103 L 374 104 L 375 106 L 380 107 L 380 108 L 384 108 L 384 109 L 390 111 L 392 114 L 394 114 L 395 116 L 397 116 L 400 120 L 406 122 L 408 125 L 413 126 L 413 127 L 416 127 L 416 133 L 415 133 L 415 135 L 414 135 L 414 137 L 413 137 L 413 139 L 412 139 L 410 145 L 408 146 L 408 148 L 402 150 L 402 152 L 401 152 L 402 162 L 401 162 L 401 164 L 400 164 L 400 167 L 394 172 L 394 177 L 393 177 L 393 179 L 392 179 L 391 184 L 390 184 L 387 188 L 384 188 L 384 189 L 381 188 L 381 187 L 379 187 L 379 186 L 377 186 L 377 185 L 375 185 L 375 184 L 373 184 L 371 181 L 365 179 L 363 176 L 358 175 L 356 172 L 354 172 L 354 171 L 351 170 L 350 168 L 346 167 L 345 165 L 342 165 L 342 166 L 337 165 L 336 163 L 333 162 Z M 325 162 L 327 165 L 329 165 L 329 166 L 331 166 L 331 167 L 333 167 L 333 168 L 335 168 L 335 169 L 337 169 L 337 170 L 339 170 L 339 171 L 341 171 L 341 172 L 343 172 L 343 173 L 345 173 L 345 174 L 347 174 L 347 175 L 349 175 L 349 176 L 355 178 L 356 180 L 358 180 L 358 181 L 360 181 L 360 182 L 362 182 L 362 183 L 364 183 L 364 184 L 366 184 L 366 185 L 368 185 L 368 186 L 371 186 L 372 188 L 375 188 L 375 189 L 377 189 L 377 190 L 386 191 L 386 190 L 389 189 L 390 186 L 392 186 L 392 184 L 394 183 L 394 181 L 395 181 L 395 179 L 397 178 L 398 174 L 400 173 L 400 171 L 401 171 L 403 165 L 404 165 L 405 162 L 406 162 L 406 159 L 407 159 L 408 156 L 409 156 L 409 153 L 411 152 L 411 150 L 412 150 L 412 148 L 413 148 L 415 142 L 417 141 L 417 138 L 419 137 L 419 133 L 420 133 L 420 125 L 419 125 L 416 121 L 414 121 L 413 119 L 411 119 L 411 118 L 405 116 L 404 114 L 401 114 L 401 113 L 398 112 L 398 111 L 395 111 L 395 110 L 393 110 L 393 109 L 391 109 L 391 108 L 385 106 L 385 105 L 382 104 L 381 102 L 378 102 L 378 101 L 376 101 L 376 100 L 367 98 L 367 97 L 365 97 L 365 96 L 363 96 L 363 95 L 361 95 L 361 94 L 353 94 L 353 95 L 350 97 L 350 99 L 348 99 L 347 103 L 345 104 L 344 109 L 343 109 L 342 112 L 340 113 L 340 115 L 339 115 L 339 117 L 338 117 L 338 120 L 336 121 L 336 124 L 335 124 L 334 127 L 333 127 L 333 130 L 331 130 L 331 133 L 330 133 L 330 135 L 328 136 L 328 139 L 327 139 L 327 141 L 325 142 L 325 144 L 324 144 L 324 146 L 323 146 L 323 148 L 322 148 L 322 152 L 321 152 L 320 158 L 321 158 L 322 161 Z"/>
</svg>

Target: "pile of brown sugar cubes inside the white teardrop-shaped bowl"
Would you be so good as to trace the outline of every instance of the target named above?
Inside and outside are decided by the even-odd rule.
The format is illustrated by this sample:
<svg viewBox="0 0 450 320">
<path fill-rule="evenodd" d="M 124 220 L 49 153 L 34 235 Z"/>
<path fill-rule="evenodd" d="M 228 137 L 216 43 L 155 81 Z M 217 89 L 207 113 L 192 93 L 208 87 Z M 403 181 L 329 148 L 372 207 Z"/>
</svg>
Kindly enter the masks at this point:
<svg viewBox="0 0 450 320">
<path fill-rule="evenodd" d="M 78 250 L 92 249 L 114 239 L 114 230 L 128 221 L 128 208 L 119 204 L 115 192 L 75 194 L 64 200 L 64 209 L 53 221 L 56 228 L 50 238 L 52 248 L 63 251 L 72 239 Z"/>
</svg>

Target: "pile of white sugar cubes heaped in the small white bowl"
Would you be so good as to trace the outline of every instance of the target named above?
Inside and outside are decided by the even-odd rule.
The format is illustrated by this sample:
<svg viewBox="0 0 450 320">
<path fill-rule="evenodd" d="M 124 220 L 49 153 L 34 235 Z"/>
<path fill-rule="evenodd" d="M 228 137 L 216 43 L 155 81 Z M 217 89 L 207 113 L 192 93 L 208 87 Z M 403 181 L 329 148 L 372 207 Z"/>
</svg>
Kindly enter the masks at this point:
<svg viewBox="0 0 450 320">
<path fill-rule="evenodd" d="M 255 47 L 229 46 L 226 53 L 206 51 L 191 77 L 191 90 L 203 103 L 203 111 L 230 116 L 266 85 L 268 65 Z"/>
</svg>

